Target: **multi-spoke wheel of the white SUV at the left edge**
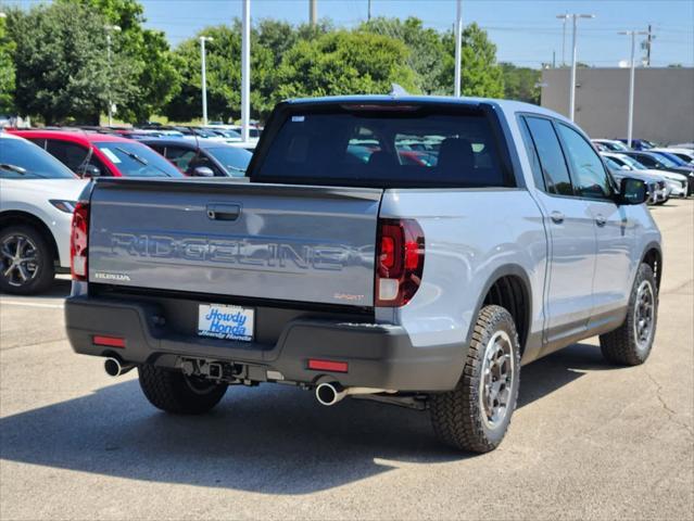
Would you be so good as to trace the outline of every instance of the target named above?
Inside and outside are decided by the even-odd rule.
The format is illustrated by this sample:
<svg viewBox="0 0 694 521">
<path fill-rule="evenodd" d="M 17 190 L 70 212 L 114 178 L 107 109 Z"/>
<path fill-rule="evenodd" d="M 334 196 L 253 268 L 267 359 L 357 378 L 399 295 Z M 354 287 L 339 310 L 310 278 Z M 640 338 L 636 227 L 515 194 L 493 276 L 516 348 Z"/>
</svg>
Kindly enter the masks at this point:
<svg viewBox="0 0 694 521">
<path fill-rule="evenodd" d="M 34 260 L 14 265 L 12 257 L 17 253 L 17 245 L 20 245 L 21 255 Z M 42 293 L 50 289 L 54 278 L 53 249 L 40 231 L 29 225 L 10 225 L 0 230 L 0 290 L 2 292 L 15 295 Z"/>
</svg>

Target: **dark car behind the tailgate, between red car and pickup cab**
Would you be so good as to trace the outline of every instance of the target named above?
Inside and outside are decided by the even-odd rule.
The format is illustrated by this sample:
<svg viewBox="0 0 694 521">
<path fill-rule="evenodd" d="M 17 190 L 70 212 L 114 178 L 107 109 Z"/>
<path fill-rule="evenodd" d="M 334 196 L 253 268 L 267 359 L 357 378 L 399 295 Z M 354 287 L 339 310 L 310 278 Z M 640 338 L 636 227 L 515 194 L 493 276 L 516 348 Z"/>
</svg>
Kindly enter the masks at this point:
<svg viewBox="0 0 694 521">
<path fill-rule="evenodd" d="M 243 177 L 251 162 L 248 150 L 206 139 L 141 139 L 182 173 L 198 177 Z"/>
</svg>

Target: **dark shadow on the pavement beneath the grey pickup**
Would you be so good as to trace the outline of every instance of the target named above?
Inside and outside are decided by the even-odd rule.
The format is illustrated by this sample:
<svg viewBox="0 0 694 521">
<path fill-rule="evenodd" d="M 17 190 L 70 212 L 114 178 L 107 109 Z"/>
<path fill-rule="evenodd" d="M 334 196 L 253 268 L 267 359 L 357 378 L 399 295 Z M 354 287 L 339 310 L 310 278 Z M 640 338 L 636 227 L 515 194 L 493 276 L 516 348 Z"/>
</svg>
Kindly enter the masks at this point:
<svg viewBox="0 0 694 521">
<path fill-rule="evenodd" d="M 607 366 L 578 344 L 523 368 L 519 407 Z M 438 444 L 428 414 L 363 401 L 323 407 L 280 385 L 230 387 L 210 415 L 152 408 L 137 381 L 0 419 L 0 457 L 163 483 L 306 494 L 388 472 L 388 461 L 470 457 Z"/>
</svg>

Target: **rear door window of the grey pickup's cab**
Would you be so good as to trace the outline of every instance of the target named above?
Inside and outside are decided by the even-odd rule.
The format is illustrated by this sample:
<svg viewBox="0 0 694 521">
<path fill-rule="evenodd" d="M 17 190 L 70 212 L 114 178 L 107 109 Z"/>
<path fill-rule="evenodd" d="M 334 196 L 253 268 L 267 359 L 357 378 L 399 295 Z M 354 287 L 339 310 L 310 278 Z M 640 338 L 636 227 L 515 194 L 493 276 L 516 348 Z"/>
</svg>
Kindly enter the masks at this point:
<svg viewBox="0 0 694 521">
<path fill-rule="evenodd" d="M 573 195 L 569 168 L 564 158 L 559 139 L 554 131 L 554 125 L 544 117 L 528 116 L 523 119 L 528 124 L 532 142 L 538 152 L 542 177 L 546 186 L 545 191 L 558 195 Z"/>
</svg>

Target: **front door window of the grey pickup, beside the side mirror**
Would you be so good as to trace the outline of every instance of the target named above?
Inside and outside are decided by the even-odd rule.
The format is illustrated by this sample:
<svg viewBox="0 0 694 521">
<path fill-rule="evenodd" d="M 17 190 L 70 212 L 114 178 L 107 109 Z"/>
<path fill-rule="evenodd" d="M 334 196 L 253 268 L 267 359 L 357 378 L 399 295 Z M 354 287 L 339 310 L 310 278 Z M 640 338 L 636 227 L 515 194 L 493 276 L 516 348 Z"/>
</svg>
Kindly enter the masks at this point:
<svg viewBox="0 0 694 521">
<path fill-rule="evenodd" d="M 564 124 L 557 125 L 571 164 L 573 187 L 583 198 L 611 199 L 613 187 L 605 171 L 605 165 L 593 147 L 581 136 Z"/>
</svg>

